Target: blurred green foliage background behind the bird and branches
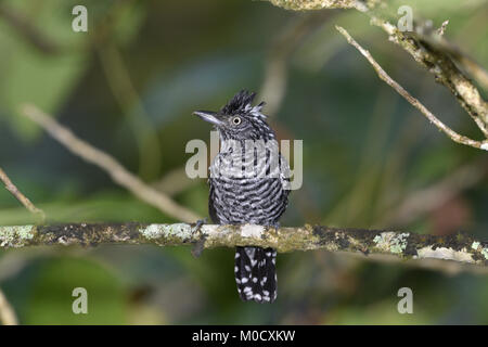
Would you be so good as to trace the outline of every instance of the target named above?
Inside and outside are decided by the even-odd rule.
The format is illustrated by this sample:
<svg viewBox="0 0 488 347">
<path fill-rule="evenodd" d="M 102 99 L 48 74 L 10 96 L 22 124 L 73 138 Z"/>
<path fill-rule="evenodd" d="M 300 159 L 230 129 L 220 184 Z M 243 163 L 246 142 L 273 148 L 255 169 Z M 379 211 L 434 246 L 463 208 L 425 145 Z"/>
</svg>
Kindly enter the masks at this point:
<svg viewBox="0 0 488 347">
<path fill-rule="evenodd" d="M 488 66 L 486 1 L 399 1 L 406 3 L 435 27 L 449 18 L 447 37 Z M 75 4 L 88 8 L 88 34 L 72 30 Z M 209 140 L 210 129 L 191 112 L 216 110 L 242 88 L 259 91 L 275 42 L 316 15 L 248 0 L 5 0 L 0 5 L 36 33 L 34 39 L 26 36 L 25 25 L 0 13 L 0 166 L 50 222 L 172 220 L 21 118 L 22 103 L 52 113 L 156 182 L 184 165 L 189 140 Z M 377 79 L 334 24 L 347 28 L 444 121 L 480 136 L 452 95 L 367 17 L 333 11 L 286 57 L 286 90 L 271 118 L 280 138 L 304 140 L 304 187 L 293 192 L 282 224 L 461 230 L 487 240 L 486 174 L 406 221 L 385 219 L 457 169 L 483 170 L 486 154 L 439 133 Z M 40 49 L 39 38 L 55 49 Z M 175 198 L 206 215 L 207 194 L 200 180 Z M 0 224 L 33 221 L 0 190 Z M 208 250 L 194 259 L 184 247 L 11 249 L 0 252 L 0 287 L 25 324 L 488 323 L 486 274 L 320 252 L 286 254 L 279 256 L 277 304 L 259 306 L 239 300 L 232 253 Z M 72 291 L 78 286 L 88 290 L 86 316 L 72 312 Z M 413 314 L 397 312 L 403 286 L 413 290 Z"/>
</svg>

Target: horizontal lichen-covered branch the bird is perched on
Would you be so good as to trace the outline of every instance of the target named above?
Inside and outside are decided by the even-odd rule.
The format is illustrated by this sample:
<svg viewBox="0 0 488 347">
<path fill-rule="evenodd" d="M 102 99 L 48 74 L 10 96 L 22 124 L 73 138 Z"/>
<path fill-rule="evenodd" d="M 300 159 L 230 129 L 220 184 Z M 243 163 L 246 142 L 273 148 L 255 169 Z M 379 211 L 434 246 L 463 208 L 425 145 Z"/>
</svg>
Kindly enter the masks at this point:
<svg viewBox="0 0 488 347">
<path fill-rule="evenodd" d="M 309 226 L 271 228 L 254 224 L 197 227 L 189 223 L 70 223 L 0 227 L 0 248 L 101 244 L 198 245 L 214 247 L 261 246 L 280 253 L 329 252 L 391 255 L 398 259 L 444 259 L 487 266 L 488 242 L 459 233 L 448 236 L 410 232 Z"/>
</svg>

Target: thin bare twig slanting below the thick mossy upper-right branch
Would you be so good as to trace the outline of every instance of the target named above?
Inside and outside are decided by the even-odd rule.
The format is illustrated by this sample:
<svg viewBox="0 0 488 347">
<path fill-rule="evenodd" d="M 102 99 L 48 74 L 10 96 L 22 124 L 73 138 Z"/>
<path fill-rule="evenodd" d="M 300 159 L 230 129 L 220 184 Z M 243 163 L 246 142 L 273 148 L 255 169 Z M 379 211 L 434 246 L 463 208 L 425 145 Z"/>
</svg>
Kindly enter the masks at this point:
<svg viewBox="0 0 488 347">
<path fill-rule="evenodd" d="M 352 44 L 373 66 L 377 76 L 384 80 L 388 86 L 395 89 L 401 97 L 403 97 L 412 106 L 418 108 L 427 119 L 433 123 L 440 131 L 446 133 L 452 141 L 462 143 L 475 149 L 481 149 L 488 151 L 488 141 L 480 142 L 475 141 L 464 136 L 459 134 L 442 121 L 440 121 L 431 111 L 428 111 L 418 99 L 413 98 L 407 90 L 403 89 L 397 81 L 395 81 L 380 66 L 380 64 L 373 59 L 369 51 L 363 49 L 356 40 L 341 26 L 335 26 L 336 29 L 347 39 L 347 42 Z"/>
</svg>

